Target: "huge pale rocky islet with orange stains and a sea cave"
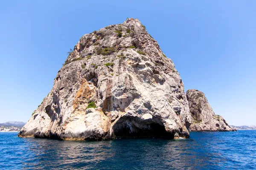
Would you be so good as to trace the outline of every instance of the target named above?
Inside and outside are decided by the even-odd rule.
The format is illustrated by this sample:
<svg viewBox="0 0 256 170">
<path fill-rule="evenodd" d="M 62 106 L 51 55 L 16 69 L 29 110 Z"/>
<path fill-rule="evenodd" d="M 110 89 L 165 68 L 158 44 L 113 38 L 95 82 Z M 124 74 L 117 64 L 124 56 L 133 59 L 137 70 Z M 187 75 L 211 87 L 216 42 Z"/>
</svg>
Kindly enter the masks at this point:
<svg viewBox="0 0 256 170">
<path fill-rule="evenodd" d="M 137 19 L 85 34 L 20 137 L 188 138 L 183 82 Z"/>
</svg>

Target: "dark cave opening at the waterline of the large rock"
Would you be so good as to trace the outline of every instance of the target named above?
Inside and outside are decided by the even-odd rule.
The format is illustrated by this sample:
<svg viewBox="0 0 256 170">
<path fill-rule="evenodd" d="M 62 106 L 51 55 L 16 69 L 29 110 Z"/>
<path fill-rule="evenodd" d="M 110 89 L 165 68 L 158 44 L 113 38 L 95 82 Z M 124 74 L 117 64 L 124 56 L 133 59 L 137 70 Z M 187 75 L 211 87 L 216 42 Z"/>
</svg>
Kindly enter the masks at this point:
<svg viewBox="0 0 256 170">
<path fill-rule="evenodd" d="M 164 125 L 127 116 L 123 116 L 116 122 L 113 131 L 116 138 L 174 138 L 174 134 L 168 133 Z"/>
</svg>

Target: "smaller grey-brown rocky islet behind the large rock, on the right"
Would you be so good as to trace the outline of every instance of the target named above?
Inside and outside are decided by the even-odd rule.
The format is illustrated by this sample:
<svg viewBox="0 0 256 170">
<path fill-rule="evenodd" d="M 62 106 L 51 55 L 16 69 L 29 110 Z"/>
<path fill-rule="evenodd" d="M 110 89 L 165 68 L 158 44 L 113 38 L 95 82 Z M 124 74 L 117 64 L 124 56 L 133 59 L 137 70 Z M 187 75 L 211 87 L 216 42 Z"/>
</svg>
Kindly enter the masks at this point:
<svg viewBox="0 0 256 170">
<path fill-rule="evenodd" d="M 233 131 L 222 116 L 215 115 L 204 93 L 195 89 L 186 91 L 192 115 L 191 131 Z"/>
</svg>

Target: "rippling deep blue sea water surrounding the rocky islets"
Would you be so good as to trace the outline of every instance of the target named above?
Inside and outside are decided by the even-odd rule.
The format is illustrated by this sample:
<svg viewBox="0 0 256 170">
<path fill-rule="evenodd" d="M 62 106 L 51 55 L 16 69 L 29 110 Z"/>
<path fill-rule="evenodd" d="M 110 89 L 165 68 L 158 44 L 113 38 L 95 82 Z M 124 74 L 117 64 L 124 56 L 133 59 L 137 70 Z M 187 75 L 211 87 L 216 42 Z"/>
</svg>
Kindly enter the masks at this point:
<svg viewBox="0 0 256 170">
<path fill-rule="evenodd" d="M 256 130 L 191 132 L 190 139 L 72 142 L 0 133 L 0 170 L 256 169 Z"/>
</svg>

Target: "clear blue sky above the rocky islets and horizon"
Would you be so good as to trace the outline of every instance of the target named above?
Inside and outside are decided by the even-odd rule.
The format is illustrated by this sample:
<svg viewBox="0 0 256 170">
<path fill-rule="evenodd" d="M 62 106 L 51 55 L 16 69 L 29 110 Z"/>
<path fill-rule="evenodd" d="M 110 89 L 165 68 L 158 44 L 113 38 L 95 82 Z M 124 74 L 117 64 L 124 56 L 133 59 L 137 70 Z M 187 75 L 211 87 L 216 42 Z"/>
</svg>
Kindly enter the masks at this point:
<svg viewBox="0 0 256 170">
<path fill-rule="evenodd" d="M 0 122 L 27 122 L 83 34 L 138 18 L 185 90 L 230 125 L 256 125 L 255 0 L 13 0 L 0 10 Z"/>
</svg>

